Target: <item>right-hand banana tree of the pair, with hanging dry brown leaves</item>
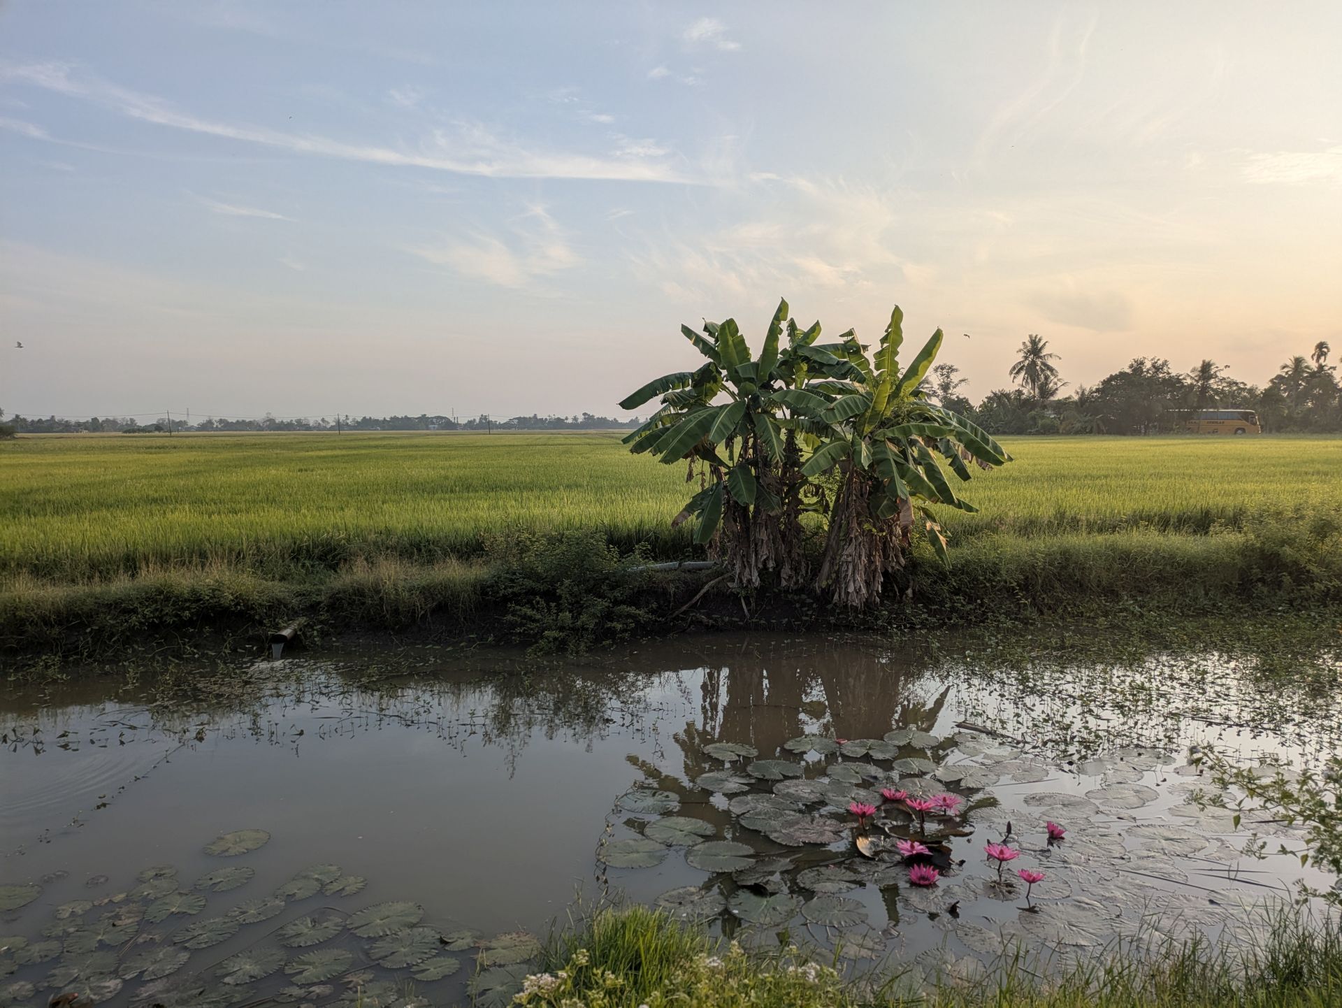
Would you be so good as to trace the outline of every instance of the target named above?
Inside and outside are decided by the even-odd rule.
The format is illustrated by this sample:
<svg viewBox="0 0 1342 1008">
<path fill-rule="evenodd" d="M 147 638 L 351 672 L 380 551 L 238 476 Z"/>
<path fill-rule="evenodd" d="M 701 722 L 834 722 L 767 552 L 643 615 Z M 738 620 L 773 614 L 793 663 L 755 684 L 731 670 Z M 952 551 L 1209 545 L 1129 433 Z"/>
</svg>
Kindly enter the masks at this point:
<svg viewBox="0 0 1342 1008">
<path fill-rule="evenodd" d="M 837 474 L 816 587 L 829 589 L 841 605 L 870 605 L 880 597 L 886 574 L 906 562 L 917 523 L 947 558 L 945 530 L 929 505 L 977 509 L 957 497 L 938 456 L 961 481 L 970 478 L 969 464 L 992 468 L 1009 460 L 986 432 L 919 389 L 942 338 L 938 329 L 900 369 L 903 311 L 895 306 L 872 357 L 845 334 L 843 360 L 852 369 L 847 380 L 808 383 L 798 392 L 812 399 L 792 396 L 812 430 L 824 427 L 812 435 L 803 475 Z"/>
</svg>

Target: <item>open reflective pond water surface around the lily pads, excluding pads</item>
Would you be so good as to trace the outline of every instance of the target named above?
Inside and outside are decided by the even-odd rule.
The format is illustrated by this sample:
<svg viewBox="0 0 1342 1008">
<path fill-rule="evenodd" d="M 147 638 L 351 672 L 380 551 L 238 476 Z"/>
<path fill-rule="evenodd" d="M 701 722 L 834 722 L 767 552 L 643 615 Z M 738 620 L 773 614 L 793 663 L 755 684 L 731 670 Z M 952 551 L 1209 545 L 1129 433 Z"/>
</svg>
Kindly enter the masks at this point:
<svg viewBox="0 0 1342 1008">
<path fill-rule="evenodd" d="M 1064 879 L 1068 893 L 1126 899 L 1225 890 L 1208 872 L 1229 876 L 1236 868 L 1241 879 L 1272 885 L 1299 876 L 1275 864 L 1271 875 L 1249 875 L 1261 868 L 1236 859 L 1227 823 L 1176 811 L 1188 808 L 1197 784 L 1181 768 L 1192 741 L 1220 738 L 1296 761 L 1334 744 L 1337 718 L 1326 703 L 1283 717 L 1290 698 L 1270 698 L 1251 671 L 1170 655 L 1107 668 L 998 667 L 927 660 L 863 640 L 723 636 L 582 664 L 537 666 L 497 654 L 444 659 L 419 651 L 395 662 L 342 654 L 11 690 L 0 695 L 0 872 L 5 883 L 42 891 L 4 930 L 35 936 L 56 907 L 83 899 L 91 876 L 110 876 L 109 889 L 98 890 L 107 893 L 144 885 L 136 874 L 149 864 L 176 866 L 193 879 L 217 868 L 201 850 L 211 838 L 263 828 L 274 840 L 247 855 L 255 878 L 236 893 L 209 894 L 203 913 L 227 914 L 264 898 L 317 862 L 368 879 L 365 891 L 318 898 L 342 911 L 416 901 L 427 911 L 424 926 L 475 929 L 480 941 L 544 930 L 576 891 L 605 887 L 647 901 L 676 889 L 713 891 L 722 901 L 717 926 L 735 933 L 743 918 L 729 903 L 738 891 L 768 895 L 781 885 L 811 901 L 824 893 L 800 876 L 831 864 L 859 872 L 833 894 L 862 905 L 880 952 L 925 956 L 942 968 L 945 956 L 984 954 L 990 934 L 1000 938 L 1004 929 L 1047 945 L 1064 925 L 1079 926 L 1051 918 L 1056 910 L 1039 918 L 1047 926 L 1020 918 L 1020 894 L 1001 899 L 985 889 L 976 862 L 982 839 L 1000 838 L 1007 819 L 1017 835 L 1039 832 L 1045 813 L 1057 815 L 1056 803 L 1088 825 L 1070 846 L 1039 855 L 1052 875 L 1040 887 L 1045 905 Z M 960 727 L 966 722 L 981 730 Z M 1001 803 L 972 812 L 973 836 L 946 834 L 947 875 L 938 890 L 911 889 L 888 862 L 855 863 L 851 832 L 836 844 L 776 843 L 742 823 L 733 795 L 696 784 L 723 769 L 705 752 L 717 742 L 801 766 L 803 756 L 784 748 L 789 740 L 882 740 L 902 727 L 937 742 L 900 742 L 898 758 L 977 768 L 978 785 L 943 774 L 938 787 L 969 801 L 992 795 Z M 837 764 L 856 777 L 832 778 Z M 773 781 L 752 777 L 743 764 L 729 769 L 749 781 L 750 793 L 773 791 Z M 798 803 L 807 815 L 837 820 L 844 788 L 871 792 L 878 773 L 898 780 L 927 770 L 896 772 L 895 760 L 884 757 L 811 754 L 798 773 L 797 780 L 829 788 L 823 800 Z M 1125 784 L 1159 789 L 1159 800 L 1127 808 L 1122 801 L 1141 792 L 1106 791 Z M 764 889 L 730 871 L 695 867 L 682 847 L 650 868 L 601 866 L 595 851 L 604 838 L 643 838 L 656 820 L 619 807 L 631 788 L 667 792 L 674 815 L 706 823 L 713 840 L 745 842 L 756 867 L 786 866 L 762 871 Z M 1092 791 L 1100 792 L 1095 800 L 1087 797 Z M 1031 804 L 1032 796 L 1043 797 Z M 907 831 L 909 823 L 895 819 Z M 1119 836 L 1151 823 L 1154 829 L 1137 834 L 1139 843 Z M 1185 847 L 1201 863 L 1176 866 L 1172 858 Z M 1139 878 L 1158 885 L 1134 882 Z M 303 899 L 286 902 L 272 925 L 310 914 L 317 903 Z M 960 906 L 958 918 L 951 905 Z M 1186 909 L 1201 913 L 1205 899 Z M 801 918 L 797 926 L 817 940 L 835 937 L 823 922 Z M 160 937 L 170 941 L 166 930 Z M 255 941 L 242 929 L 211 949 L 208 961 Z M 480 950 L 472 942 L 463 946 L 467 960 Z M 372 954 L 357 942 L 349 948 Z M 185 969 L 200 968 L 193 957 Z M 35 972 L 40 980 L 48 969 L 34 962 L 20 978 Z M 462 992 L 462 976 L 431 982 L 442 984 L 432 988 L 435 999 Z M 110 1001 L 129 1000 L 130 987 Z M 344 993 L 337 988 L 333 997 Z"/>
</svg>

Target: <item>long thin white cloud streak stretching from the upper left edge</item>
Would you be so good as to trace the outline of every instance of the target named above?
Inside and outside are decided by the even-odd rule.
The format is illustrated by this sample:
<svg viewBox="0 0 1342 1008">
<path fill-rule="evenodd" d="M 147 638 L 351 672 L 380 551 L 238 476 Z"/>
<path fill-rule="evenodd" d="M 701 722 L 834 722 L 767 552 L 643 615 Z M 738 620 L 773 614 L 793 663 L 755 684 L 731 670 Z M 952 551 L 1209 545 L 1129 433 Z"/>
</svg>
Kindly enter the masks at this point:
<svg viewBox="0 0 1342 1008">
<path fill-rule="evenodd" d="M 205 119 L 178 111 L 153 95 L 140 94 L 91 77 L 75 77 L 71 67 L 63 63 L 4 63 L 0 64 L 0 79 L 19 81 L 71 98 L 90 101 L 129 118 L 157 126 L 259 144 L 295 154 L 499 179 L 705 183 L 702 179 L 686 176 L 668 158 L 603 157 L 546 150 L 506 140 L 479 125 L 460 125 L 455 134 L 447 130 L 433 130 L 421 138 L 419 150 L 409 150 L 376 144 L 350 144 L 310 133 L 285 133 L 266 126 Z"/>
</svg>

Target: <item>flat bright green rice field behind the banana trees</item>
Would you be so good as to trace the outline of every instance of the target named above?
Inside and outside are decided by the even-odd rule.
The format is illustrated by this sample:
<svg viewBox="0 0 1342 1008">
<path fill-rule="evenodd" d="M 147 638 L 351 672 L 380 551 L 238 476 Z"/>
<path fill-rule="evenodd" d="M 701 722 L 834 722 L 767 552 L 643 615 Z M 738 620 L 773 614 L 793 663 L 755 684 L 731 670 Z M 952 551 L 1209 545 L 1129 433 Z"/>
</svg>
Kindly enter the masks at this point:
<svg viewBox="0 0 1342 1008">
<path fill-rule="evenodd" d="M 1342 439 L 1016 438 L 964 487 L 953 544 L 1149 529 L 1205 534 L 1342 513 Z M 620 434 L 32 436 L 0 444 L 0 576 L 165 566 L 266 577 L 357 557 L 478 554 L 517 529 L 599 527 L 688 556 L 683 466 Z"/>
</svg>

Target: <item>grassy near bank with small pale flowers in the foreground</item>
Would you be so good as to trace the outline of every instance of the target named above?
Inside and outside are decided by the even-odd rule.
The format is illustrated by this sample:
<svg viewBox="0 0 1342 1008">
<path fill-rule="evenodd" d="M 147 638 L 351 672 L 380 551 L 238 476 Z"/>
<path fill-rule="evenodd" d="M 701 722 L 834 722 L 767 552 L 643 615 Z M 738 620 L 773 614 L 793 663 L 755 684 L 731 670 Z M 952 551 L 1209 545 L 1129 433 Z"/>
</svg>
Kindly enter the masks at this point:
<svg viewBox="0 0 1342 1008">
<path fill-rule="evenodd" d="M 1279 918 L 1257 945 L 1117 950 L 1049 973 L 1025 958 L 934 989 L 917 966 L 844 980 L 829 961 L 796 948 L 743 953 L 654 911 L 607 910 L 553 941 L 546 973 L 522 1004 L 533 1008 L 1325 1008 L 1342 1003 L 1342 933 Z"/>
</svg>

